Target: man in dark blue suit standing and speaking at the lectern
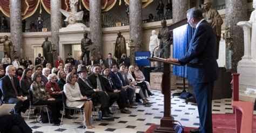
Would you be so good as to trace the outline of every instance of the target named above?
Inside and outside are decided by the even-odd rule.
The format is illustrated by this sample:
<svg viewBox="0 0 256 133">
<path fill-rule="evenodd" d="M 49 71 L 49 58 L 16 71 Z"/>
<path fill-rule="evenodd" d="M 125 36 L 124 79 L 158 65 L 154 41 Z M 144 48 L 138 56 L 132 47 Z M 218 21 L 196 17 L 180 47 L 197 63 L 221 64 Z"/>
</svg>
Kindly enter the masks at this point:
<svg viewBox="0 0 256 133">
<path fill-rule="evenodd" d="M 187 22 L 196 30 L 186 54 L 180 58 L 168 58 L 167 61 L 187 64 L 188 83 L 194 88 L 200 122 L 199 129 L 190 131 L 212 133 L 212 93 L 214 80 L 218 78 L 215 33 L 211 25 L 203 19 L 203 12 L 200 9 L 189 9 Z"/>
</svg>

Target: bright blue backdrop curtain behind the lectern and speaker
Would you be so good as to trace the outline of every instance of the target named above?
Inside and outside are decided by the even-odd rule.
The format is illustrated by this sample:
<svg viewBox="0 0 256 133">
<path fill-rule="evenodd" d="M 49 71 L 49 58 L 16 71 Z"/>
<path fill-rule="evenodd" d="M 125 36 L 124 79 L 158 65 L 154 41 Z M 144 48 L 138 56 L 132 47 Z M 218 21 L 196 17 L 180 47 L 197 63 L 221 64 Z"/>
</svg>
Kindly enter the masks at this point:
<svg viewBox="0 0 256 133">
<path fill-rule="evenodd" d="M 194 28 L 189 24 L 173 29 L 173 58 L 185 55 L 193 33 Z M 173 65 L 173 75 L 187 78 L 187 66 Z"/>
</svg>

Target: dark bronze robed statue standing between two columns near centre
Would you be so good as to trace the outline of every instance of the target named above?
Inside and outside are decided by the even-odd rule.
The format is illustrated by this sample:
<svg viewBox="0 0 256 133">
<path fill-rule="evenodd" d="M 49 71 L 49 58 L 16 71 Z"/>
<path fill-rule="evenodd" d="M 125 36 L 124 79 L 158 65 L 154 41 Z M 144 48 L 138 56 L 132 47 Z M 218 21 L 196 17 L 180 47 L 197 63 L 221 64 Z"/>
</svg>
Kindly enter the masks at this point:
<svg viewBox="0 0 256 133">
<path fill-rule="evenodd" d="M 114 56 L 116 58 L 121 58 L 122 54 L 126 54 L 126 42 L 123 35 L 121 35 L 121 32 L 117 32 L 117 40 L 116 40 L 116 46 L 114 46 Z"/>
</svg>

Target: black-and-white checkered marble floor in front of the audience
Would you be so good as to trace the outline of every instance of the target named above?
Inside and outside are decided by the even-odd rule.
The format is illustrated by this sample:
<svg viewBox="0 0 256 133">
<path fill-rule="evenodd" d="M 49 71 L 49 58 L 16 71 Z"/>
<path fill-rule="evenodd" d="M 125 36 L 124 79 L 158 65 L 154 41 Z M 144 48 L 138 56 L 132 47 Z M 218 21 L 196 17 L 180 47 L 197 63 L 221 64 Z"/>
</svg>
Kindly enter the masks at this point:
<svg viewBox="0 0 256 133">
<path fill-rule="evenodd" d="M 172 91 L 172 93 L 180 92 L 181 90 Z M 149 100 L 154 102 L 150 106 L 143 106 L 139 104 L 130 108 L 132 114 L 122 114 L 118 107 L 116 107 L 114 121 L 95 121 L 93 125 L 96 128 L 83 129 L 82 123 L 73 122 L 73 120 L 64 119 L 63 127 L 55 124 L 40 124 L 36 123 L 36 120 L 29 120 L 29 126 L 33 129 L 33 132 L 145 132 L 151 124 L 160 124 L 160 119 L 163 116 L 164 96 L 160 91 L 152 90 L 155 94 Z M 213 113 L 232 113 L 231 99 L 219 99 L 213 100 L 212 104 Z M 179 121 L 186 127 L 198 127 L 199 117 L 196 104 L 188 103 L 186 105 L 184 99 L 174 97 L 171 99 L 171 112 L 174 120 Z M 25 115 L 25 114 L 23 114 Z M 78 115 L 79 116 L 79 115 Z M 26 119 L 25 119 L 26 120 Z M 80 118 L 78 118 L 78 121 Z"/>
</svg>

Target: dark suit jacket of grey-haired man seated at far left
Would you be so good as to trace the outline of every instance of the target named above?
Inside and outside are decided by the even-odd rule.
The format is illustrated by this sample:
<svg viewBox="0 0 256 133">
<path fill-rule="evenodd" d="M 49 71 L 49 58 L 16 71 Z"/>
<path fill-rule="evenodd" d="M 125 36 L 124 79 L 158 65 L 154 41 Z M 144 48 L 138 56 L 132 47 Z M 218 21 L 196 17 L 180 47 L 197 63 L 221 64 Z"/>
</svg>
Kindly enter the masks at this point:
<svg viewBox="0 0 256 133">
<path fill-rule="evenodd" d="M 23 95 L 21 87 L 19 86 L 19 79 L 17 77 L 13 77 L 14 79 L 14 86 L 18 92 L 18 96 Z M 8 75 L 2 78 L 2 100 L 8 101 L 10 98 L 16 98 L 14 88 L 11 85 L 11 79 Z"/>
</svg>

